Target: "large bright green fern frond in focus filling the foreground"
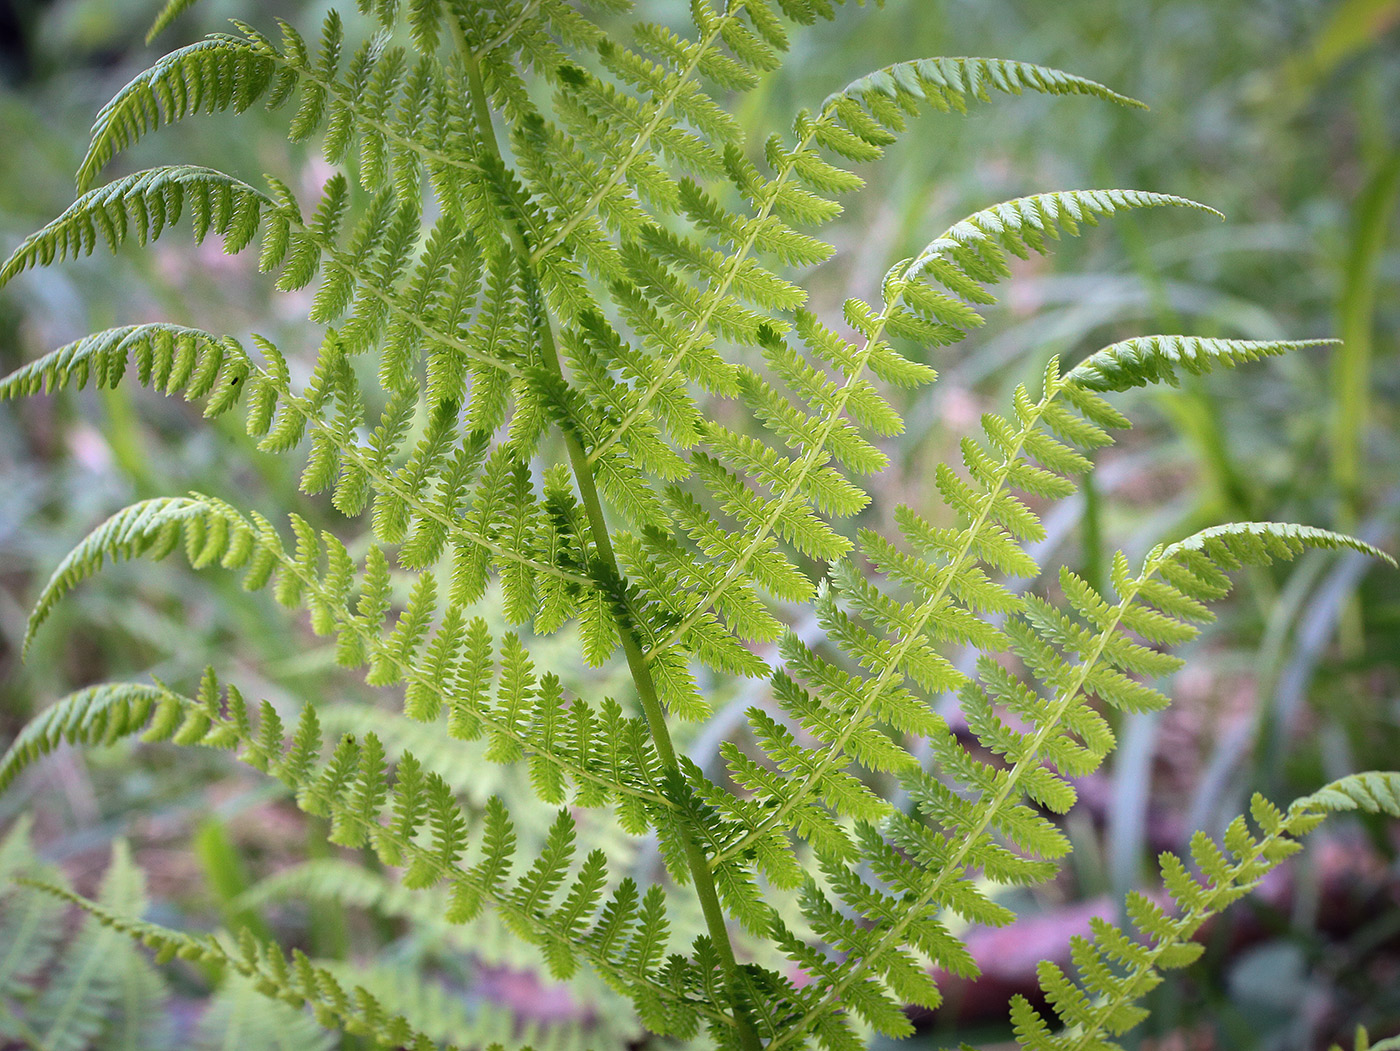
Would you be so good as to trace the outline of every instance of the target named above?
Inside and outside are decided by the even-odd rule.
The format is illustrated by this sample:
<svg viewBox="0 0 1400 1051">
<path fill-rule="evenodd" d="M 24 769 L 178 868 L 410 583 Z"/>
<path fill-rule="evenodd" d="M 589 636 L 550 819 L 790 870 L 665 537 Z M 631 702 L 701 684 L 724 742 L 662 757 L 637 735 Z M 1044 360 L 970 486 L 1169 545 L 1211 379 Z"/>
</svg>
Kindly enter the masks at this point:
<svg viewBox="0 0 1400 1051">
<path fill-rule="evenodd" d="M 1023 92 L 1133 99 L 1021 62 L 924 59 L 748 144 L 720 99 L 776 69 L 795 27 L 836 17 L 832 0 L 692 0 L 685 32 L 637 21 L 630 43 L 602 28 L 627 0 L 358 7 L 358 43 L 332 11 L 315 43 L 287 24 L 276 36 L 237 25 L 140 74 L 98 115 L 81 196 L 0 270 L 11 281 L 188 217 L 196 241 L 256 244 L 279 290 L 319 280 L 319 346 L 130 325 L 34 361 L 0 395 L 112 386 L 133 368 L 206 416 L 241 406 L 262 451 L 302 458 L 307 494 L 329 491 L 346 518 L 368 512 L 372 532 L 354 556 L 295 512 L 272 522 L 199 493 L 143 501 L 55 571 L 31 635 L 106 560 L 183 549 L 195 568 L 238 571 L 307 610 L 342 665 L 402 686 L 409 722 L 381 714 L 346 731 L 344 712 L 311 704 L 284 719 L 218 669 L 193 696 L 106 684 L 41 714 L 0 787 L 63 740 L 231 749 L 328 819 L 332 842 L 441 894 L 438 921 L 497 917 L 552 975 L 587 970 L 655 1034 L 848 1051 L 868 1029 L 910 1033 L 906 1005 L 937 1008 L 932 967 L 976 974 L 951 919 L 1008 924 L 997 889 L 1057 870 L 1068 841 L 1056 816 L 1114 743 L 1106 710 L 1166 704 L 1151 680 L 1180 662 L 1162 647 L 1196 635 L 1228 571 L 1309 547 L 1386 557 L 1319 529 L 1245 523 L 1138 567 L 1116 556 L 1109 592 L 1068 571 L 1058 602 L 1007 585 L 1040 575 L 1028 498 L 1074 493 L 1089 453 L 1127 427 L 1105 395 L 1305 346 L 1182 336 L 1116 343 L 1072 368 L 1053 360 L 1005 414 L 983 417 L 960 467 L 931 473 L 939 521 L 900 508 L 895 530 L 850 528 L 871 500 L 861 480 L 888 463 L 881 441 L 903 427 L 899 392 L 934 382 L 927 361 L 983 323 L 1009 256 L 1124 210 L 1210 211 L 1120 189 L 1005 202 L 897 263 L 876 302 L 822 318 L 791 276 L 832 255 L 811 231 L 861 188 L 850 168 L 924 109 Z M 256 102 L 291 108 L 294 141 L 319 136 L 335 175 L 314 207 L 276 176 L 255 186 L 190 165 L 92 189 L 160 126 Z M 811 607 L 819 641 L 785 626 L 792 606 Z M 514 631 L 493 630 L 496 610 Z M 539 656 L 556 633 L 577 633 L 592 666 L 620 652 L 627 694 L 573 690 Z M 981 654 L 976 668 L 955 666 L 952 647 Z M 713 675 L 770 690 L 707 774 L 672 729 L 711 714 Z M 980 756 L 938 714 L 949 694 Z M 413 724 L 437 728 L 417 735 L 423 747 L 518 767 L 528 787 L 465 799 L 405 743 Z M 890 802 L 896 789 L 906 803 Z M 536 803 L 552 816 L 512 814 Z M 1194 959 L 1210 915 L 1323 813 L 1355 806 L 1400 814 L 1396 780 L 1348 780 L 1287 810 L 1256 799 L 1253 830 L 1242 819 L 1222 844 L 1193 841 L 1198 875 L 1168 855 L 1175 907 L 1134 897 L 1133 932 L 1098 924 L 1075 943 L 1077 977 L 1046 964 L 1054 1017 L 1014 1002 L 1022 1045 L 1113 1047 L 1159 973 Z M 654 835 L 669 879 L 620 875 L 609 827 Z M 190 936 L 84 905 L 164 956 L 217 963 L 384 1045 L 486 1043 L 252 931 Z"/>
</svg>

